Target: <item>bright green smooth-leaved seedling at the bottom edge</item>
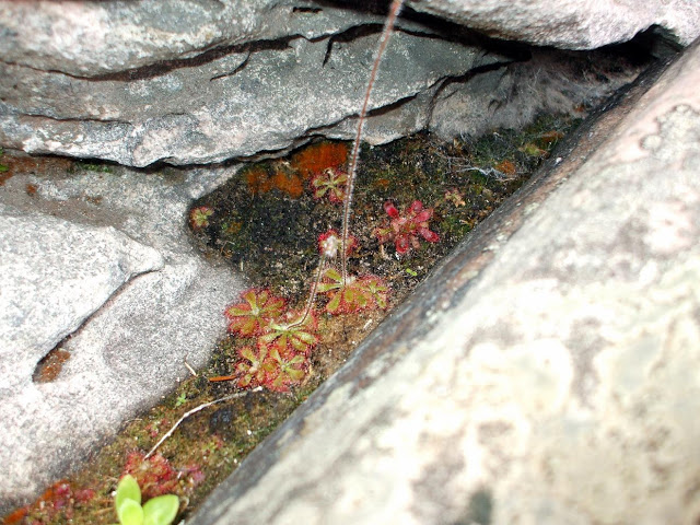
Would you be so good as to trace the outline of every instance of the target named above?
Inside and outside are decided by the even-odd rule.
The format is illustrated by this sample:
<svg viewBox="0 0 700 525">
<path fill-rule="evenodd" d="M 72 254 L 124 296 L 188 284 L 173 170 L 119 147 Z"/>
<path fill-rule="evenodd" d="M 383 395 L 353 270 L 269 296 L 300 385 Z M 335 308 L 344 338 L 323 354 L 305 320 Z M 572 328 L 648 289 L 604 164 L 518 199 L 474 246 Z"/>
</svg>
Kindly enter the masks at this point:
<svg viewBox="0 0 700 525">
<path fill-rule="evenodd" d="M 120 525 L 171 525 L 177 515 L 179 500 L 175 494 L 159 495 L 141 506 L 139 483 L 127 474 L 117 485 L 114 506 Z"/>
</svg>

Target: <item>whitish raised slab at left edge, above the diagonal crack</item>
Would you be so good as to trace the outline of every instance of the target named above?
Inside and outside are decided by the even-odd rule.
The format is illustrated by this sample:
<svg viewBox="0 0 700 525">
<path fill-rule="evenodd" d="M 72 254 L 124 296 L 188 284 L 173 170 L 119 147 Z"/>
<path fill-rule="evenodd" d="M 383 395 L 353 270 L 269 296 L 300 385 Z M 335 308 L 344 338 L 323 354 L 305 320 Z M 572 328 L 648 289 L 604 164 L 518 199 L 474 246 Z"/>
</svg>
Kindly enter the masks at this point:
<svg viewBox="0 0 700 525">
<path fill-rule="evenodd" d="M 3 210 L 8 212 L 9 210 Z M 114 228 L 0 215 L 0 396 L 132 277 L 163 268 L 155 249 Z"/>
</svg>

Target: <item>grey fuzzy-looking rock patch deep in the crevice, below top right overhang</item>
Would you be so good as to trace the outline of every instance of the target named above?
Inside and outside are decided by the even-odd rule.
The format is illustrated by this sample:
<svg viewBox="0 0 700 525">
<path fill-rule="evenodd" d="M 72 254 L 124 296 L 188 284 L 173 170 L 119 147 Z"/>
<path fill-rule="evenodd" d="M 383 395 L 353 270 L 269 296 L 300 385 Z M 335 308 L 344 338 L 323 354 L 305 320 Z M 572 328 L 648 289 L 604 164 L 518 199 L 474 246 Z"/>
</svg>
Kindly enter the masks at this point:
<svg viewBox="0 0 700 525">
<path fill-rule="evenodd" d="M 430 130 L 451 141 L 499 128 L 521 129 L 541 114 L 582 118 L 641 71 L 641 65 L 621 54 L 532 54 L 528 60 L 446 84 L 433 100 Z"/>
</svg>

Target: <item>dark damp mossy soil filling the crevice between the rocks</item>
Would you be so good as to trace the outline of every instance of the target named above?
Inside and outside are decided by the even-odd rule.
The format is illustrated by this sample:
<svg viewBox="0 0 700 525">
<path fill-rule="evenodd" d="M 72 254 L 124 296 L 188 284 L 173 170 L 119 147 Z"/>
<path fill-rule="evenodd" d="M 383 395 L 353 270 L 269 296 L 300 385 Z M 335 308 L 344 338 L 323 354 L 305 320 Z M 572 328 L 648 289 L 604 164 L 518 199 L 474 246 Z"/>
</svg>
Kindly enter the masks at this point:
<svg viewBox="0 0 700 525">
<path fill-rule="evenodd" d="M 245 456 L 349 358 L 357 345 L 398 305 L 469 232 L 517 190 L 575 125 L 564 116 L 541 116 L 520 132 L 495 130 L 481 138 L 442 143 L 417 135 L 363 149 L 355 184 L 352 233 L 359 248 L 349 273 L 374 275 L 388 285 L 388 305 L 342 315 L 314 305 L 319 342 L 303 377 L 289 392 L 244 388 L 236 368 L 250 338 L 230 335 L 213 349 L 209 364 L 182 382 L 161 402 L 129 421 L 117 438 L 69 479 L 47 488 L 35 503 L 7 515 L 7 524 L 113 524 L 114 490 L 126 471 L 139 480 L 144 498 L 175 493 L 177 522 L 187 518 Z M 328 194 L 312 195 L 315 174 L 342 165 L 349 144 L 319 141 L 285 159 L 244 166 L 228 184 L 192 205 L 192 242 L 203 257 L 243 271 L 250 287 L 283 298 L 302 310 L 319 264 L 317 237 L 340 229 L 341 205 Z M 3 159 L 0 156 L 0 164 Z M 98 170 L 101 165 L 91 165 Z M 5 171 L 7 172 L 7 171 Z M 3 172 L 4 173 L 4 172 Z M 11 172 L 10 172 L 11 173 Z M 5 175 L 10 176 L 10 175 Z M 0 180 L 2 184 L 2 180 Z M 27 191 L 30 188 L 27 188 Z M 439 241 L 420 235 L 398 255 L 385 203 L 400 214 L 415 201 L 432 210 L 428 221 Z M 433 238 L 433 241 L 435 241 Z M 329 261 L 336 266 L 337 261 Z M 236 296 L 232 303 L 241 303 Z M 231 381 L 211 382 L 217 376 Z M 254 386 L 250 384 L 249 386 Z M 187 412 L 226 398 L 187 417 L 145 458 L 145 454 Z M 177 523 L 176 522 L 176 523 Z"/>
</svg>

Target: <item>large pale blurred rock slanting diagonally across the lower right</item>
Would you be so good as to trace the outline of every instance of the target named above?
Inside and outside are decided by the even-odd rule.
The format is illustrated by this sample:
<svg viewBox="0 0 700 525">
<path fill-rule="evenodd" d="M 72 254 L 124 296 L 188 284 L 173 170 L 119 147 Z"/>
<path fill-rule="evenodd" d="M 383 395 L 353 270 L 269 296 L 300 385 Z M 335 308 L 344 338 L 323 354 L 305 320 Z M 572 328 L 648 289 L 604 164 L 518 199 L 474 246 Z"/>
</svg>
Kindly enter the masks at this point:
<svg viewBox="0 0 700 525">
<path fill-rule="evenodd" d="M 699 65 L 584 126 L 188 523 L 698 523 Z"/>
</svg>

